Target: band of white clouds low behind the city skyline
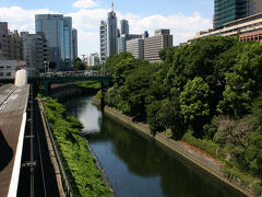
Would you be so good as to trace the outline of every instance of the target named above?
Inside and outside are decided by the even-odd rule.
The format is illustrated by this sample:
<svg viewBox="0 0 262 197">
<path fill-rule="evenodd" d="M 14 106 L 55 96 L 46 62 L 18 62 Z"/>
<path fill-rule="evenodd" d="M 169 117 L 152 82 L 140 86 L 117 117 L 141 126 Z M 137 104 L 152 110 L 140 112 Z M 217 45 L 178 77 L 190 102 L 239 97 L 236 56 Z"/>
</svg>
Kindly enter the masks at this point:
<svg viewBox="0 0 262 197">
<path fill-rule="evenodd" d="M 79 55 L 99 51 L 99 23 L 107 19 L 110 9 L 81 9 L 75 12 L 66 13 L 72 16 L 73 27 L 79 32 Z M 0 8 L 0 21 L 7 21 L 9 28 L 35 32 L 35 14 L 56 13 L 50 10 L 24 10 L 19 7 Z M 174 45 L 187 42 L 195 32 L 212 27 L 209 19 L 199 13 L 183 15 L 181 13 L 171 15 L 155 14 L 146 18 L 132 13 L 117 12 L 118 22 L 122 19 L 129 20 L 130 32 L 142 34 L 148 31 L 150 35 L 158 28 L 170 28 L 174 35 Z"/>
</svg>

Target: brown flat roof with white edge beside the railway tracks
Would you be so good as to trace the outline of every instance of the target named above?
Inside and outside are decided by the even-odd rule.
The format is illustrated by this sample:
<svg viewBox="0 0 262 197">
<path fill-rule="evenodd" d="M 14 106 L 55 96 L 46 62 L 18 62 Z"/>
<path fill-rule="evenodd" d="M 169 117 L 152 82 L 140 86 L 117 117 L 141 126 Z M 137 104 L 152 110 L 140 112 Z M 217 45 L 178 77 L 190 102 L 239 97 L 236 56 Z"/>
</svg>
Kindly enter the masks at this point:
<svg viewBox="0 0 262 197">
<path fill-rule="evenodd" d="M 17 185 L 28 90 L 29 85 L 0 88 L 0 196 L 8 196 L 11 183 Z"/>
</svg>

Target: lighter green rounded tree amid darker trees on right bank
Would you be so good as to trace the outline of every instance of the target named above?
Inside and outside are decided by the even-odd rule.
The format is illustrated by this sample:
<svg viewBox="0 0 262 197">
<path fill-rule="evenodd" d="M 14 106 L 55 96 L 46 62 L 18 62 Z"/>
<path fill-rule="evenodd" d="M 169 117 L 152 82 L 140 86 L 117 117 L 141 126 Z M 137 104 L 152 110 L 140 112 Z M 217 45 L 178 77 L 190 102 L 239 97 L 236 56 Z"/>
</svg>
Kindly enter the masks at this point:
<svg viewBox="0 0 262 197">
<path fill-rule="evenodd" d="M 189 80 L 180 94 L 181 114 L 184 121 L 192 124 L 195 130 L 201 129 L 210 115 L 210 94 L 209 84 L 200 77 Z"/>
</svg>

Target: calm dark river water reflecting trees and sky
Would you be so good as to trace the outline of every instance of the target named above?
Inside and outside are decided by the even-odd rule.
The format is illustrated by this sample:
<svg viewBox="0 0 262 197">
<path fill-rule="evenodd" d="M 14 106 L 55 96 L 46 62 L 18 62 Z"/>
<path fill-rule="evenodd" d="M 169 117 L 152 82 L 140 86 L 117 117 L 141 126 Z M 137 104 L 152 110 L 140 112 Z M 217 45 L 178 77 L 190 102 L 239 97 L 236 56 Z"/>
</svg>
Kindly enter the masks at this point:
<svg viewBox="0 0 262 197">
<path fill-rule="evenodd" d="M 91 96 L 68 101 L 118 197 L 242 196 L 200 167 L 103 115 Z M 86 135 L 88 134 L 88 135 Z"/>
</svg>

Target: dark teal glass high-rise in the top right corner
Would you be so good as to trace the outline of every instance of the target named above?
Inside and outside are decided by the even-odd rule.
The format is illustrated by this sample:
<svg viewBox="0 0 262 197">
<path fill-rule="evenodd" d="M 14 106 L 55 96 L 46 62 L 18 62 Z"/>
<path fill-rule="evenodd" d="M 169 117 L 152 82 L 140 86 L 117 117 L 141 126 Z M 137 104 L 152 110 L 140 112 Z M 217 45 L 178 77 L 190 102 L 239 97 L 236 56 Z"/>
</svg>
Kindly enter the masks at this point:
<svg viewBox="0 0 262 197">
<path fill-rule="evenodd" d="M 262 12 L 261 0 L 215 0 L 214 27 Z"/>
</svg>

